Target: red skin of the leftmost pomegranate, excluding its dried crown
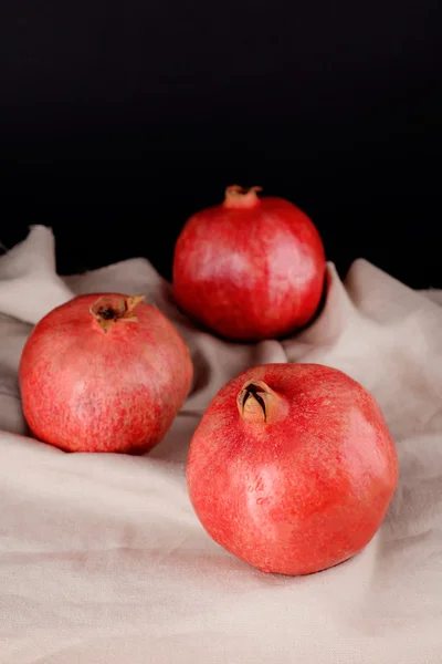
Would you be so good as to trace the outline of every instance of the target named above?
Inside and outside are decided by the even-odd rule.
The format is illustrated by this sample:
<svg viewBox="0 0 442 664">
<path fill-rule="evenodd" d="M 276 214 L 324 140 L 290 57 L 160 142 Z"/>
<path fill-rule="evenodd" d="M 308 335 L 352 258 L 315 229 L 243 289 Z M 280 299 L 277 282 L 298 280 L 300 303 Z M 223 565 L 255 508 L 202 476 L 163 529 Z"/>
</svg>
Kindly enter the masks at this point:
<svg viewBox="0 0 442 664">
<path fill-rule="evenodd" d="M 34 436 L 71 452 L 141 453 L 169 429 L 190 387 L 192 363 L 178 331 L 156 308 L 134 309 L 105 334 L 74 298 L 34 328 L 21 356 L 24 416 Z"/>
</svg>

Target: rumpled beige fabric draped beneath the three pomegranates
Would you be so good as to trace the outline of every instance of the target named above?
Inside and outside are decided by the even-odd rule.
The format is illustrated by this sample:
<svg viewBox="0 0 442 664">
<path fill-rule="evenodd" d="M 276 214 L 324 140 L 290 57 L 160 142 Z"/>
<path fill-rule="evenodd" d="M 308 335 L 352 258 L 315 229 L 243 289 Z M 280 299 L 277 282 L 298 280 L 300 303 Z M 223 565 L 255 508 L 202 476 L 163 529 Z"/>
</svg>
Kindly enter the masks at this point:
<svg viewBox="0 0 442 664">
<path fill-rule="evenodd" d="M 17 387 L 31 324 L 74 293 L 146 292 L 191 347 L 196 380 L 145 457 L 69 455 L 25 436 Z M 430 297 L 429 297 L 430 295 Z M 33 227 L 0 258 L 1 664 L 440 664 L 442 309 L 359 260 L 296 339 L 225 343 L 194 330 L 144 259 L 62 279 Z M 189 440 L 215 392 L 248 366 L 322 362 L 379 400 L 400 487 L 351 561 L 263 574 L 212 542 L 189 502 Z"/>
</svg>

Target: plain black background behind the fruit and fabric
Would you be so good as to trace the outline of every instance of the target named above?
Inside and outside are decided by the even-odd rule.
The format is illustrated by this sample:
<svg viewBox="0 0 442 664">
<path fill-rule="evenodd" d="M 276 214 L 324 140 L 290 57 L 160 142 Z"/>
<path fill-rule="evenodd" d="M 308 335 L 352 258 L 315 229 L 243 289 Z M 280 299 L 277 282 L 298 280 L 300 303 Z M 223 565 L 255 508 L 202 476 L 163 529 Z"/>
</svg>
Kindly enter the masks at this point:
<svg viewBox="0 0 442 664">
<path fill-rule="evenodd" d="M 62 272 L 170 277 L 224 187 L 302 207 L 341 274 L 442 287 L 438 1 L 0 6 L 0 239 L 52 226 Z"/>
</svg>

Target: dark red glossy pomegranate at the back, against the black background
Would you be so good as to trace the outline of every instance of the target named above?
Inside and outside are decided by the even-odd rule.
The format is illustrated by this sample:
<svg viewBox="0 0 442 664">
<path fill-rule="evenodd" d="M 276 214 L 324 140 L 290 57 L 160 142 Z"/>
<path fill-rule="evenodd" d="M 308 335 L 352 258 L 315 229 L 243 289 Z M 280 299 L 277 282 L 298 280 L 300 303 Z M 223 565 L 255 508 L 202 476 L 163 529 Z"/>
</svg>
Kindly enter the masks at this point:
<svg viewBox="0 0 442 664">
<path fill-rule="evenodd" d="M 311 219 L 260 187 L 228 187 L 193 215 L 175 248 L 173 293 L 188 315 L 220 335 L 287 335 L 315 314 L 325 281 L 322 239 Z"/>
</svg>

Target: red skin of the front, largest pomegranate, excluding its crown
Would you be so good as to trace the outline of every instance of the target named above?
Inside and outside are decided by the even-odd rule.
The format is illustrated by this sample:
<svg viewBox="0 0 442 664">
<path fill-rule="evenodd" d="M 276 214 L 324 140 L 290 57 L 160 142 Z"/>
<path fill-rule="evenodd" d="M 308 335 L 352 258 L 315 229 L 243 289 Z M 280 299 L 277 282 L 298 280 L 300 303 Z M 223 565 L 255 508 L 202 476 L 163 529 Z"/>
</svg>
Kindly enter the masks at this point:
<svg viewBox="0 0 442 664">
<path fill-rule="evenodd" d="M 236 395 L 250 378 L 281 396 L 273 424 L 240 416 Z M 202 526 L 228 551 L 264 572 L 308 574 L 371 540 L 398 483 L 398 459 L 361 385 L 327 366 L 267 364 L 214 397 L 191 440 L 187 480 Z"/>
</svg>

